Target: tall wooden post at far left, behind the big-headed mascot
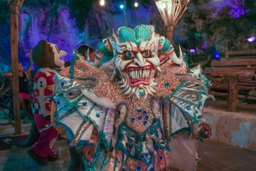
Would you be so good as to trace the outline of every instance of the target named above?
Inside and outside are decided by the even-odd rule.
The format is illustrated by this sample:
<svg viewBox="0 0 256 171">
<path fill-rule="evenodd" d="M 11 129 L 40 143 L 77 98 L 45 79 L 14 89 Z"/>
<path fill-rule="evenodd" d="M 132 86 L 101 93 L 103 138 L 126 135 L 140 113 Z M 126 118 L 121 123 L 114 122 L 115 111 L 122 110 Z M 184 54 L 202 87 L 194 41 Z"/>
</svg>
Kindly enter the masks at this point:
<svg viewBox="0 0 256 171">
<path fill-rule="evenodd" d="M 24 0 L 9 0 L 10 5 L 10 42 L 12 64 L 13 110 L 15 115 L 15 134 L 21 134 L 20 124 L 20 86 L 18 71 L 18 15 Z"/>
</svg>

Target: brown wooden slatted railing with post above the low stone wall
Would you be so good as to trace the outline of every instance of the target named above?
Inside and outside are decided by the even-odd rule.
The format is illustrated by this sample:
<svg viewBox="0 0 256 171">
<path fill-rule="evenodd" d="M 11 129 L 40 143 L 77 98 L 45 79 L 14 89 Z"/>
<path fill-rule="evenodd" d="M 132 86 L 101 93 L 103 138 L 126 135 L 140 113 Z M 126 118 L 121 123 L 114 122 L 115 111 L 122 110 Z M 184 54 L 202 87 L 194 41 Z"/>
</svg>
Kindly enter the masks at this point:
<svg viewBox="0 0 256 171">
<path fill-rule="evenodd" d="M 203 73 L 212 83 L 212 94 L 227 97 L 228 111 L 236 111 L 237 104 L 246 100 L 256 102 L 256 49 L 226 51 Z"/>
</svg>

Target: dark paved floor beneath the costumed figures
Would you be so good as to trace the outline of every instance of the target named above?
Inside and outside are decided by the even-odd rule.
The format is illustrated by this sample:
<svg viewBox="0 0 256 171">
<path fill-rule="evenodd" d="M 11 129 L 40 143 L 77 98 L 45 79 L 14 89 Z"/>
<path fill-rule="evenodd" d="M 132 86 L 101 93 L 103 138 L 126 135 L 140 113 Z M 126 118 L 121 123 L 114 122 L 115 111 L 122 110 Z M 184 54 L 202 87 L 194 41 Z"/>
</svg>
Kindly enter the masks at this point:
<svg viewBox="0 0 256 171">
<path fill-rule="evenodd" d="M 22 134 L 28 134 L 31 123 L 22 123 Z M 11 125 L 0 125 L 0 137 L 14 134 Z M 26 153 L 26 149 L 13 146 L 0 151 L 0 170 L 3 171 L 66 171 L 70 162 L 66 140 L 57 140 L 55 151 L 60 159 L 41 166 Z M 247 151 L 232 145 L 205 140 L 199 144 L 197 171 L 256 171 L 256 151 Z"/>
</svg>

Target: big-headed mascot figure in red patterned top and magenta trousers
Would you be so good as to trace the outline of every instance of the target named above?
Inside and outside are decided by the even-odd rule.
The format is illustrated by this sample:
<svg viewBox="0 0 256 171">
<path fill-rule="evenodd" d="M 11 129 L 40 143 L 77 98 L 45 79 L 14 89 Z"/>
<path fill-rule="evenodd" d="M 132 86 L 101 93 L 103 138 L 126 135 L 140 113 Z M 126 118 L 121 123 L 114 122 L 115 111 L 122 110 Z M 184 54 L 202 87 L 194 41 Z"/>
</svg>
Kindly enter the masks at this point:
<svg viewBox="0 0 256 171">
<path fill-rule="evenodd" d="M 57 45 L 47 43 L 45 40 L 41 40 L 32 49 L 33 63 L 39 68 L 34 76 L 32 89 L 32 113 L 38 130 L 50 123 L 51 101 L 46 99 L 46 97 L 54 93 L 54 68 L 64 66 L 64 61 L 61 60 L 61 57 L 66 54 L 67 53 L 58 48 Z M 54 127 L 40 133 L 36 144 L 27 151 L 29 156 L 40 164 L 47 164 L 49 160 L 56 160 L 57 154 L 54 151 L 54 145 L 57 136 L 58 132 Z"/>
</svg>

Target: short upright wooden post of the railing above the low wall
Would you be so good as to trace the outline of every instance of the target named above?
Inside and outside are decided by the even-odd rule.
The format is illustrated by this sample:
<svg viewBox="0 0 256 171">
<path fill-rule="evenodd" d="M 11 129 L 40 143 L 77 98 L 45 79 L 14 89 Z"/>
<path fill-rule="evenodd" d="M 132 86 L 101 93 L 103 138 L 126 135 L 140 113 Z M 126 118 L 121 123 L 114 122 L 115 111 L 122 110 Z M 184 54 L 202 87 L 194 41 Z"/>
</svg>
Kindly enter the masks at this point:
<svg viewBox="0 0 256 171">
<path fill-rule="evenodd" d="M 237 94 L 238 94 L 238 76 L 229 75 L 229 89 L 228 89 L 228 111 L 237 111 Z"/>
</svg>

